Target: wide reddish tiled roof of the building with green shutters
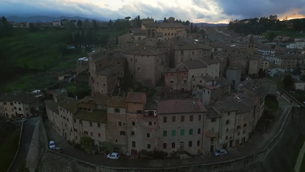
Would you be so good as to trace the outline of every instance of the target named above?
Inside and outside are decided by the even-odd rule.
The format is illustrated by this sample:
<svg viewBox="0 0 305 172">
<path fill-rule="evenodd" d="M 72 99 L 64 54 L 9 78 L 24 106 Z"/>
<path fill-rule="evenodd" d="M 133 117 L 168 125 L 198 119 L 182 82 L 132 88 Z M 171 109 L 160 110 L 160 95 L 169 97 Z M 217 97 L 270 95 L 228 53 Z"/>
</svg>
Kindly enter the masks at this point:
<svg viewBox="0 0 305 172">
<path fill-rule="evenodd" d="M 158 114 L 206 112 L 198 99 L 158 100 Z"/>
</svg>

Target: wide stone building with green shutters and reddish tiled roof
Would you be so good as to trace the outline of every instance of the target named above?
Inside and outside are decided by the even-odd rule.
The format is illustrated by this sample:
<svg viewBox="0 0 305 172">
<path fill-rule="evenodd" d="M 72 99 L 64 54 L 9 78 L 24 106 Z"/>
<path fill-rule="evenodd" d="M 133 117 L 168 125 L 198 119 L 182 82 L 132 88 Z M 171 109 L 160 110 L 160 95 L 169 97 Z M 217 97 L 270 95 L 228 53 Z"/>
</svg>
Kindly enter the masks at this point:
<svg viewBox="0 0 305 172">
<path fill-rule="evenodd" d="M 201 154 L 204 116 L 198 99 L 158 100 L 158 149 Z"/>
</svg>

